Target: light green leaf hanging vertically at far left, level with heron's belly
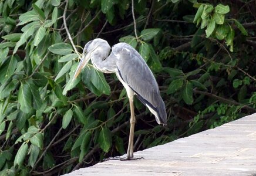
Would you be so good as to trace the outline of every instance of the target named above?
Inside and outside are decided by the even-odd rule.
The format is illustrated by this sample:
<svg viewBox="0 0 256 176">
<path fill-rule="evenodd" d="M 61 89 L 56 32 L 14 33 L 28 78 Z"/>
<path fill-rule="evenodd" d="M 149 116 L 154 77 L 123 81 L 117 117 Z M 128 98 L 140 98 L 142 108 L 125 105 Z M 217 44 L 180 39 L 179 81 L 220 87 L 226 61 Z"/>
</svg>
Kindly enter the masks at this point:
<svg viewBox="0 0 256 176">
<path fill-rule="evenodd" d="M 29 89 L 28 84 L 21 83 L 18 92 L 18 102 L 21 104 L 20 109 L 24 113 L 29 113 L 31 111 L 31 90 Z"/>
</svg>

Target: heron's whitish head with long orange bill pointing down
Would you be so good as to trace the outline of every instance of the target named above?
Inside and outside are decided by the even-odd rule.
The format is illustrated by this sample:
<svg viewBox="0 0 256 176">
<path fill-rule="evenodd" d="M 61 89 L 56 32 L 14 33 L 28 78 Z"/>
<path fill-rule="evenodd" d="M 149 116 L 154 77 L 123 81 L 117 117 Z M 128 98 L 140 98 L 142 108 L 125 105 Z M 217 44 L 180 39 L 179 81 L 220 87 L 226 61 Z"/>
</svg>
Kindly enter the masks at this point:
<svg viewBox="0 0 256 176">
<path fill-rule="evenodd" d="M 86 64 L 92 58 L 93 52 L 106 47 L 110 49 L 109 43 L 107 43 L 107 41 L 103 39 L 94 39 L 87 42 L 85 45 L 85 48 L 83 48 L 82 59 L 80 60 L 78 68 L 76 69 L 75 75 L 73 76 L 73 80 L 75 80 L 76 77 L 78 77 L 82 69 L 86 66 Z M 109 50 L 107 50 L 107 53 L 108 52 Z"/>
</svg>

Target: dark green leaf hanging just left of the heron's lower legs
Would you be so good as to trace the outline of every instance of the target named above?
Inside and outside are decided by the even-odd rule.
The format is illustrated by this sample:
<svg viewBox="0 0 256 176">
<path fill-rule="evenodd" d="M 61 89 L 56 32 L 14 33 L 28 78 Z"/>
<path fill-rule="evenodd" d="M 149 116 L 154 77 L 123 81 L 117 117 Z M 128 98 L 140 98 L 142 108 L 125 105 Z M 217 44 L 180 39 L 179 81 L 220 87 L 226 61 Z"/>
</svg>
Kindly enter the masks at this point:
<svg viewBox="0 0 256 176">
<path fill-rule="evenodd" d="M 112 137 L 109 128 L 102 128 L 98 137 L 98 143 L 100 144 L 100 148 L 107 153 L 112 146 Z"/>
</svg>

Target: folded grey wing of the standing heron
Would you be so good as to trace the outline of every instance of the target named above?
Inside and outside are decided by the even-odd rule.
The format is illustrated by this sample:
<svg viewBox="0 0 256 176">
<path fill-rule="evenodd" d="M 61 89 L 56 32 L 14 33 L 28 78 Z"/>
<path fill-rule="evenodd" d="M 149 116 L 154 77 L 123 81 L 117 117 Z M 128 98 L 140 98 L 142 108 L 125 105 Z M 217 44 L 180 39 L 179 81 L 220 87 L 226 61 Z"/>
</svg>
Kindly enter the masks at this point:
<svg viewBox="0 0 256 176">
<path fill-rule="evenodd" d="M 156 111 L 157 122 L 166 124 L 166 109 L 160 96 L 159 86 L 142 56 L 126 43 L 114 45 L 112 52 L 117 56 L 117 74 L 136 93 L 143 104 Z"/>
</svg>

